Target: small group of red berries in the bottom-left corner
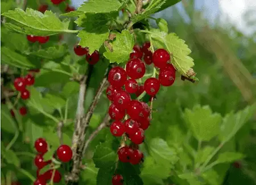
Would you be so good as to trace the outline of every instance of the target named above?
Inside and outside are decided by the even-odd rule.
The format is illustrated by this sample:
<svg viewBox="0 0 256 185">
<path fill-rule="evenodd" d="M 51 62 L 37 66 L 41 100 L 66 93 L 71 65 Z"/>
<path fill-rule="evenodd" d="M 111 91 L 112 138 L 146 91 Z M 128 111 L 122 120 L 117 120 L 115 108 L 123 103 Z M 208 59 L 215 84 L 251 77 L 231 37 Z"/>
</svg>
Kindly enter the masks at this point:
<svg viewBox="0 0 256 185">
<path fill-rule="evenodd" d="M 40 175 L 40 170 L 43 169 L 44 166 L 49 165 L 52 163 L 51 160 L 49 161 L 44 161 L 43 155 L 47 153 L 48 151 L 48 144 L 44 138 L 38 138 L 35 141 L 35 149 L 38 152 L 34 159 L 35 166 L 38 167 L 38 170 L 36 171 L 36 176 L 37 179 L 34 182 L 34 185 L 46 185 L 47 180 L 52 179 L 53 176 L 53 182 L 54 183 L 59 183 L 61 180 L 61 174 L 58 170 L 48 170 L 46 173 Z M 57 157 L 60 159 L 62 162 L 69 162 L 72 158 L 72 150 L 68 145 L 61 145 L 57 149 Z M 55 172 L 53 174 L 53 172 Z"/>
</svg>

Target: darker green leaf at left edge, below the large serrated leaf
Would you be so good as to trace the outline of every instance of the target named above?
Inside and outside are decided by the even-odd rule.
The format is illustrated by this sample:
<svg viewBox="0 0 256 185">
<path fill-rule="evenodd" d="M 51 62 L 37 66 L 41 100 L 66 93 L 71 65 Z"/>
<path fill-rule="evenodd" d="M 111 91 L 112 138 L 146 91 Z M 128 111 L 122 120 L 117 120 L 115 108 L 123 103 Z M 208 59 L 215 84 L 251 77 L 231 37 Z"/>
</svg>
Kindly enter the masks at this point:
<svg viewBox="0 0 256 185">
<path fill-rule="evenodd" d="M 1 61 L 3 62 L 3 64 L 15 66 L 16 68 L 35 68 L 35 65 L 28 61 L 26 57 L 6 47 L 1 47 Z"/>
</svg>

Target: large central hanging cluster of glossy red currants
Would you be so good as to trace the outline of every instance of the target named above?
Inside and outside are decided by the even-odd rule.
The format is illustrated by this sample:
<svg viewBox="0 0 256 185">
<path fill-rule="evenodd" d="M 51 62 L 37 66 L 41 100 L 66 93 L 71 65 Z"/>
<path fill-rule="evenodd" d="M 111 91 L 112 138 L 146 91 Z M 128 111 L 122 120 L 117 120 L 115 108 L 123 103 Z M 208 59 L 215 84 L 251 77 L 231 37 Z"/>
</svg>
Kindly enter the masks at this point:
<svg viewBox="0 0 256 185">
<path fill-rule="evenodd" d="M 143 58 L 143 61 L 142 61 Z M 112 68 L 108 75 L 110 85 L 106 89 L 106 95 L 112 102 L 109 107 L 109 116 L 113 119 L 110 132 L 113 136 L 128 138 L 132 145 L 142 144 L 144 131 L 150 125 L 151 108 L 147 103 L 141 102 L 139 97 L 144 91 L 151 96 L 151 100 L 158 93 L 160 85 L 171 86 L 175 81 L 175 68 L 170 62 L 170 54 L 165 49 L 158 49 L 154 53 L 150 51 L 150 43 L 143 47 L 135 45 L 133 53 L 125 69 L 120 66 Z M 139 80 L 146 73 L 146 66 L 154 64 L 154 73 L 147 78 L 144 84 Z M 137 99 L 131 99 L 130 94 L 136 94 Z M 139 99 L 138 99 L 139 98 Z M 143 160 L 143 153 L 127 145 L 121 145 L 118 150 L 118 158 L 121 162 L 130 162 L 133 165 Z M 122 175 L 114 175 L 112 183 L 122 184 Z"/>
</svg>

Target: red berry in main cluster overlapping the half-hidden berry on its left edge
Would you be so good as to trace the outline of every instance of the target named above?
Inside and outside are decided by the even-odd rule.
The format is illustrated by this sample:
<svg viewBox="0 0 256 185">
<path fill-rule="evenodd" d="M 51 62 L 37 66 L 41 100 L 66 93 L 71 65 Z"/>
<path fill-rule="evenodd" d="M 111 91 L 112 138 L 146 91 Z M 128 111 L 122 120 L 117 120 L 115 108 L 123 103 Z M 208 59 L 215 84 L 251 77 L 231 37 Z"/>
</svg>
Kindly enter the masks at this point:
<svg viewBox="0 0 256 185">
<path fill-rule="evenodd" d="M 126 109 L 131 102 L 131 96 L 126 91 L 117 91 L 117 94 L 115 94 L 114 96 L 113 102 L 119 109 Z"/>
</svg>

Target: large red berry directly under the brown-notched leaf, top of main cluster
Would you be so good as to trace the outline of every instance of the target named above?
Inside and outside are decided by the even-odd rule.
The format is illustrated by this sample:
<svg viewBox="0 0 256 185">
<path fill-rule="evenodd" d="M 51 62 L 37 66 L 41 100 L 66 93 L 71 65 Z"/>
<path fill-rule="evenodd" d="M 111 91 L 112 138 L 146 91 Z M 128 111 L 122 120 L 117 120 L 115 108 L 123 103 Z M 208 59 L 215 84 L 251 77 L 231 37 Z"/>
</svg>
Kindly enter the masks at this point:
<svg viewBox="0 0 256 185">
<path fill-rule="evenodd" d="M 126 64 L 126 73 L 130 78 L 142 78 L 146 72 L 146 66 L 139 58 L 133 58 Z"/>
</svg>

